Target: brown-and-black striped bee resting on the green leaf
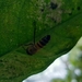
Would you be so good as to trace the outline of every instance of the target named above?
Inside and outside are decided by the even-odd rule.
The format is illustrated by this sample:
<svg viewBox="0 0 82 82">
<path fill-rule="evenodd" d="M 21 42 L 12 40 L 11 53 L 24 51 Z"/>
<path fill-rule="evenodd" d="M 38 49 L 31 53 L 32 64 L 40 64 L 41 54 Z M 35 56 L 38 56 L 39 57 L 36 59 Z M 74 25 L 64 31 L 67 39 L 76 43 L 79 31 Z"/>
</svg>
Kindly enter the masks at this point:
<svg viewBox="0 0 82 82">
<path fill-rule="evenodd" d="M 43 48 L 44 46 L 46 46 L 46 44 L 50 40 L 50 35 L 46 35 L 44 36 L 39 42 L 37 42 L 36 44 L 32 44 L 26 48 L 26 52 L 28 55 L 34 55 L 35 52 L 37 52 L 37 50 L 39 50 L 40 48 Z"/>
</svg>

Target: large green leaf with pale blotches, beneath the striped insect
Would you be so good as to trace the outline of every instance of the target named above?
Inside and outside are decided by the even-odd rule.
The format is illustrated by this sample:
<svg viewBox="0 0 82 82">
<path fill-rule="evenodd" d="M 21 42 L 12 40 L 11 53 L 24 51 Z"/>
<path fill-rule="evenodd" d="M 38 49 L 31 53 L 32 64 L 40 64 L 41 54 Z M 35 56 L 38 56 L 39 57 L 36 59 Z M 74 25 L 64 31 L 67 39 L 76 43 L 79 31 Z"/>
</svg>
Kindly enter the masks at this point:
<svg viewBox="0 0 82 82">
<path fill-rule="evenodd" d="M 0 81 L 21 82 L 68 52 L 82 36 L 81 16 L 81 0 L 0 0 Z M 22 46 L 33 43 L 34 27 L 36 43 L 50 40 L 28 56 Z"/>
</svg>

